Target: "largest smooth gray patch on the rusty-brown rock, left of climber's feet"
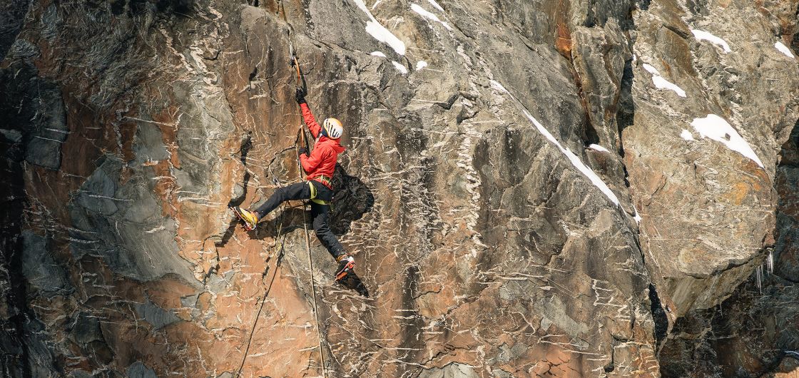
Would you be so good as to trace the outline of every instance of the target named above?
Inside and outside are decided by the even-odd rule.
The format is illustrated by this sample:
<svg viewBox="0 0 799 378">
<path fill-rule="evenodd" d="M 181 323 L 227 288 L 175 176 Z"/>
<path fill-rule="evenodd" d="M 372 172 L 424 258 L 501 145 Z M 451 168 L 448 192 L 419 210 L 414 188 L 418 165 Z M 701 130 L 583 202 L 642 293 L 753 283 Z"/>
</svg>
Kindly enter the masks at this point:
<svg viewBox="0 0 799 378">
<path fill-rule="evenodd" d="M 147 178 L 117 185 L 122 169 L 116 157 L 105 157 L 70 205 L 73 255 L 101 256 L 126 277 L 149 281 L 175 273 L 197 284 L 188 262 L 175 253 L 175 222 L 161 216 Z"/>
</svg>

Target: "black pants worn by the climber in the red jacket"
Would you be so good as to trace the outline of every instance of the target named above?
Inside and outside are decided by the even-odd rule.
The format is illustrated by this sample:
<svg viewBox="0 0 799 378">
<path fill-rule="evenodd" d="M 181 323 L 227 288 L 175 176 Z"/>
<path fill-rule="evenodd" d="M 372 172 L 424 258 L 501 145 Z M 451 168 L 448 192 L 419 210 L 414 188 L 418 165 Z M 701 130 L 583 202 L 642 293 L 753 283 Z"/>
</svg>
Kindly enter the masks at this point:
<svg viewBox="0 0 799 378">
<path fill-rule="evenodd" d="M 324 186 L 319 181 L 310 181 L 311 185 L 316 187 L 316 198 L 324 201 L 329 201 L 333 197 L 333 191 L 327 186 Z M 298 182 L 296 184 L 277 188 L 275 193 L 269 197 L 264 205 L 258 206 L 256 213 L 258 219 L 263 219 L 266 214 L 271 213 L 272 210 L 277 209 L 284 201 L 291 200 L 308 200 L 311 198 L 311 188 L 308 182 Z M 311 202 L 311 219 L 313 220 L 313 230 L 316 231 L 316 238 L 322 242 L 324 248 L 333 257 L 339 257 L 344 254 L 344 247 L 341 246 L 336 235 L 333 234 L 330 226 L 328 225 L 328 213 L 330 212 L 329 205 L 320 205 L 316 202 Z"/>
</svg>

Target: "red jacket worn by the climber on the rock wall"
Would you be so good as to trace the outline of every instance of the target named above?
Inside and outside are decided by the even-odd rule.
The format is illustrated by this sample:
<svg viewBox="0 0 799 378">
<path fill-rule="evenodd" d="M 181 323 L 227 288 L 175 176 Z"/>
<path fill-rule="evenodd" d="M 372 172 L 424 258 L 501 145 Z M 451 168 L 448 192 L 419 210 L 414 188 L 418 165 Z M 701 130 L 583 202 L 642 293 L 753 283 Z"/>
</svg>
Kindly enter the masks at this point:
<svg viewBox="0 0 799 378">
<path fill-rule="evenodd" d="M 319 137 L 322 126 L 316 123 L 311 109 L 308 109 L 308 104 L 300 104 L 300 109 L 302 109 L 303 121 L 305 121 L 305 125 L 308 125 L 308 129 L 311 130 L 313 137 Z M 344 146 L 339 143 L 338 139 L 330 139 L 324 136 L 319 137 L 319 140 L 316 141 L 316 145 L 313 146 L 310 157 L 304 153 L 300 154 L 302 169 L 305 170 L 305 173 L 308 173 L 306 179 L 315 180 L 322 175 L 332 178 L 333 171 L 336 170 L 336 157 L 338 157 L 339 153 L 343 152 Z M 327 185 L 321 180 L 316 181 L 320 181 L 322 184 L 332 189 L 332 185 Z"/>
</svg>

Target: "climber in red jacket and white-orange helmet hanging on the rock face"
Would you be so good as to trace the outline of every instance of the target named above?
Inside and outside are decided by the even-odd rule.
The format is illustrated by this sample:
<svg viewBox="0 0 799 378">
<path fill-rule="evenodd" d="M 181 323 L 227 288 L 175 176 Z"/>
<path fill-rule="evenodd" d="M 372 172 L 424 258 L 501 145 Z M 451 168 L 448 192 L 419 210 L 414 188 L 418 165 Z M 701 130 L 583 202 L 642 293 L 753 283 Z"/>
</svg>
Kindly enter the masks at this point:
<svg viewBox="0 0 799 378">
<path fill-rule="evenodd" d="M 324 248 L 328 249 L 328 253 L 339 263 L 339 268 L 336 270 L 336 281 L 341 281 L 348 273 L 352 272 L 355 267 L 355 259 L 344 251 L 344 247 L 331 231 L 328 225 L 328 212 L 330 210 L 329 203 L 333 197 L 331 181 L 333 171 L 336 169 L 336 157 L 339 153 L 344 152 L 344 146 L 339 141 L 341 134 L 344 133 L 344 128 L 336 118 L 327 118 L 320 126 L 313 117 L 311 109 L 308 108 L 305 92 L 301 88 L 297 88 L 295 98 L 300 104 L 305 125 L 316 138 L 316 144 L 310 155 L 304 146 L 299 149 L 300 165 L 307 173 L 308 181 L 276 189 L 275 193 L 272 193 L 272 197 L 269 197 L 264 205 L 260 205 L 255 211 L 239 207 L 233 208 L 233 211 L 241 221 L 244 221 L 246 229 L 255 229 L 258 221 L 264 219 L 268 213 L 284 201 L 311 200 L 313 229 Z"/>
</svg>

